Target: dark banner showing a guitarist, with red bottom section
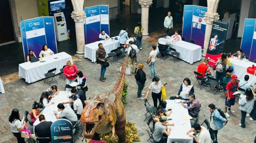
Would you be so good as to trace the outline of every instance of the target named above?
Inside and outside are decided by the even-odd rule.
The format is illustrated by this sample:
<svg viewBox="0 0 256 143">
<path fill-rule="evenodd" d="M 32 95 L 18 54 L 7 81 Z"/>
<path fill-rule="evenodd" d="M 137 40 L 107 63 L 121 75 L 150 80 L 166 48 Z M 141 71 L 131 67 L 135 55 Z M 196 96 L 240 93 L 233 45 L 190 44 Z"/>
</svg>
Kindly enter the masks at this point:
<svg viewBox="0 0 256 143">
<path fill-rule="evenodd" d="M 228 25 L 213 22 L 209 47 L 205 58 L 209 59 L 208 65 L 213 66 L 221 58 L 224 51 L 225 40 L 227 38 Z"/>
</svg>

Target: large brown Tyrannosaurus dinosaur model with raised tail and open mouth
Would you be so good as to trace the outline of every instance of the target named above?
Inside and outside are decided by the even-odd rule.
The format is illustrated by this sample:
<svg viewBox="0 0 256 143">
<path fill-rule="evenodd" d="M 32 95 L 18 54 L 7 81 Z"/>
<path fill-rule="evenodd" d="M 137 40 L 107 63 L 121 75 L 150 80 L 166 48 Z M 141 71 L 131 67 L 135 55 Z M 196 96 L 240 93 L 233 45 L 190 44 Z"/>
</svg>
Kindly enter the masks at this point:
<svg viewBox="0 0 256 143">
<path fill-rule="evenodd" d="M 122 92 L 125 83 L 126 61 L 123 63 L 119 78 L 113 89 L 108 93 L 95 95 L 85 101 L 80 121 L 83 123 L 84 138 L 100 140 L 99 134 L 107 134 L 112 131 L 112 139 L 115 133 L 119 137 L 118 143 L 125 143 L 125 108 L 122 104 Z"/>
</svg>

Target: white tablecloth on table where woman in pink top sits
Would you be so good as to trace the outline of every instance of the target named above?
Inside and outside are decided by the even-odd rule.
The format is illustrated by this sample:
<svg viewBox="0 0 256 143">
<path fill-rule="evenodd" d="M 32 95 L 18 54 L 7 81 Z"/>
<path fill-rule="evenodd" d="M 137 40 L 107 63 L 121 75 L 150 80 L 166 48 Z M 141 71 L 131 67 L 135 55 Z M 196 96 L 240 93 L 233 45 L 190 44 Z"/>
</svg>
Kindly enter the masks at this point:
<svg viewBox="0 0 256 143">
<path fill-rule="evenodd" d="M 202 49 L 201 46 L 195 45 L 186 41 L 177 41 L 175 44 L 171 43 L 173 38 L 168 39 L 170 42 L 169 46 L 176 49 L 180 53 L 179 58 L 193 64 L 202 59 Z M 158 48 L 157 48 L 158 51 Z M 171 54 L 171 52 L 169 53 Z"/>
</svg>

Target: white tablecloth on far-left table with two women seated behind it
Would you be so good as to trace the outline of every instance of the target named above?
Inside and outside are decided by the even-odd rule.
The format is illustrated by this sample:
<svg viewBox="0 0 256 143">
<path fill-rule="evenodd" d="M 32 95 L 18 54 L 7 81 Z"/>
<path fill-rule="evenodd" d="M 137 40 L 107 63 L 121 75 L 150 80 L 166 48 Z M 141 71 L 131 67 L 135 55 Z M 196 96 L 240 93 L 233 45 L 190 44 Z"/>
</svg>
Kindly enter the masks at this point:
<svg viewBox="0 0 256 143">
<path fill-rule="evenodd" d="M 58 58 L 58 59 L 54 59 Z M 45 75 L 50 69 L 57 68 L 55 74 L 60 73 L 60 69 L 66 65 L 67 61 L 72 62 L 72 57 L 65 53 L 57 53 L 52 56 L 43 57 L 46 62 L 26 62 L 19 64 L 19 76 L 24 78 L 27 83 L 33 83 L 45 78 Z"/>
</svg>

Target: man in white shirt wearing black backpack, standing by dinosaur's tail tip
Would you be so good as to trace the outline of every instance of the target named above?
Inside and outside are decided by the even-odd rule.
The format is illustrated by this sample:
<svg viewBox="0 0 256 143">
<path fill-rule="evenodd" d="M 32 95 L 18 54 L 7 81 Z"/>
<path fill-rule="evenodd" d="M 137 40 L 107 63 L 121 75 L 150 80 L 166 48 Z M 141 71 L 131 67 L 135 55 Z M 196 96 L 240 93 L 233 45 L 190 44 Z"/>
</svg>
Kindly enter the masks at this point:
<svg viewBox="0 0 256 143">
<path fill-rule="evenodd" d="M 136 62 L 136 54 L 139 52 L 139 49 L 137 45 L 133 44 L 133 41 L 129 42 L 130 47 L 128 48 L 127 54 L 129 55 L 128 57 L 128 68 L 131 68 L 131 65 L 133 65 L 133 74 L 135 72 L 135 62 Z"/>
</svg>

